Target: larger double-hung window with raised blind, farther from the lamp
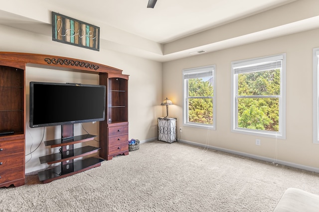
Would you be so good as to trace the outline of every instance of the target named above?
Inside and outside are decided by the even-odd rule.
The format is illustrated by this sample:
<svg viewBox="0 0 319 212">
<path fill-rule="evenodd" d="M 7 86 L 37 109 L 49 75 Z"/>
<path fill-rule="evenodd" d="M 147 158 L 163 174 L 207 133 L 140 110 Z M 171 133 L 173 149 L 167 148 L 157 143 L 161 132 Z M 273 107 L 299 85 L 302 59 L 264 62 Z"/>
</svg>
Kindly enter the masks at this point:
<svg viewBox="0 0 319 212">
<path fill-rule="evenodd" d="M 286 138 L 286 54 L 232 62 L 232 131 Z"/>
</svg>

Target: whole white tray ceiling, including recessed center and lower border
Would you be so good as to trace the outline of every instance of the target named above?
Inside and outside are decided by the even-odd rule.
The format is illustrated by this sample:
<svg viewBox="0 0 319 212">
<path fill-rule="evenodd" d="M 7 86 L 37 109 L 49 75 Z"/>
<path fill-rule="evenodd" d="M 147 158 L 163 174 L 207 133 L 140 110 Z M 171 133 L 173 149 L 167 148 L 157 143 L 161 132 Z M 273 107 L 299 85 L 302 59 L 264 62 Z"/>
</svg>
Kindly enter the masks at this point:
<svg viewBox="0 0 319 212">
<path fill-rule="evenodd" d="M 158 0 L 147 8 L 148 0 L 10 0 L 1 3 L 0 24 L 50 35 L 54 11 L 99 26 L 100 49 L 165 62 L 318 28 L 306 3 L 317 1 Z M 252 15 L 260 21 L 243 21 Z"/>
</svg>

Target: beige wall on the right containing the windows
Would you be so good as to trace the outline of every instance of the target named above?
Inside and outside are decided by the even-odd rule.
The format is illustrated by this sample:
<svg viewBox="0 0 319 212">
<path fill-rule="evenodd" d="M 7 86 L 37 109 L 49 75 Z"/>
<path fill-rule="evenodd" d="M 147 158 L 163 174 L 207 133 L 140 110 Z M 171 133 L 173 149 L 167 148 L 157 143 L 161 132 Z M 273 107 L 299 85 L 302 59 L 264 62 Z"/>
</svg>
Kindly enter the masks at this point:
<svg viewBox="0 0 319 212">
<path fill-rule="evenodd" d="M 319 47 L 318 34 L 316 29 L 164 63 L 163 97 L 174 102 L 169 107 L 170 116 L 177 117 L 178 127 L 183 127 L 182 69 L 216 65 L 216 130 L 185 126 L 180 139 L 319 171 L 319 145 L 313 143 L 312 96 L 312 54 L 313 48 Z M 286 139 L 231 132 L 231 62 L 280 53 L 287 53 Z M 257 138 L 261 146 L 255 145 Z"/>
</svg>

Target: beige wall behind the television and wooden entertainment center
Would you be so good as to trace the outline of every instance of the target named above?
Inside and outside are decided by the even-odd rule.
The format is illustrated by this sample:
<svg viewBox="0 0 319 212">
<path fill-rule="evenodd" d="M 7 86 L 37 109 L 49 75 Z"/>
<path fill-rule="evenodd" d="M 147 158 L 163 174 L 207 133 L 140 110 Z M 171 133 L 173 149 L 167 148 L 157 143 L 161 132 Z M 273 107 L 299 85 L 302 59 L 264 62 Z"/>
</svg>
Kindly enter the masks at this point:
<svg viewBox="0 0 319 212">
<path fill-rule="evenodd" d="M 129 78 L 129 139 L 135 138 L 141 141 L 152 140 L 157 137 L 156 118 L 162 116 L 162 64 L 139 57 L 134 57 L 107 49 L 93 51 L 72 45 L 52 41 L 50 36 L 31 33 L 7 26 L 0 25 L 0 51 L 29 52 L 49 54 L 83 59 L 105 64 L 123 70 L 123 74 Z M 98 75 L 84 74 L 68 71 L 58 71 L 32 67 L 26 68 L 26 143 L 25 152 L 30 148 L 34 150 L 41 141 L 43 127 L 28 128 L 29 120 L 29 82 L 61 82 L 98 84 Z M 84 123 L 83 126 L 91 134 L 98 135 L 98 123 Z M 80 124 L 75 124 L 75 134 L 84 134 Z M 60 126 L 46 127 L 45 140 L 60 137 Z M 98 139 L 98 138 L 97 138 Z M 90 141 L 90 145 L 98 146 L 98 142 Z M 39 163 L 39 156 L 58 152 L 58 148 L 51 149 L 42 143 L 40 147 L 25 157 L 25 173 L 44 169 L 47 164 Z"/>
</svg>

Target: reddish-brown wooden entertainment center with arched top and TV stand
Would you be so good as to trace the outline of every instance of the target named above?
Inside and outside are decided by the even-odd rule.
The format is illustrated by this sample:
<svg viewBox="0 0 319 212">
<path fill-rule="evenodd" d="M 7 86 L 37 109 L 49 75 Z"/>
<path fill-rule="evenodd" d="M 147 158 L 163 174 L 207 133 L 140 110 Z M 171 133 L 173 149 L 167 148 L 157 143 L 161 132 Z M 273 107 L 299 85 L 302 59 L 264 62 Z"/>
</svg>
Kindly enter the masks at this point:
<svg viewBox="0 0 319 212">
<path fill-rule="evenodd" d="M 54 164 L 39 172 L 43 183 L 67 177 L 101 165 L 116 155 L 128 155 L 128 75 L 122 70 L 73 58 L 0 52 L 0 187 L 24 185 L 25 163 L 25 66 L 35 64 L 47 69 L 99 74 L 99 84 L 105 85 L 105 120 L 100 121 L 100 147 L 73 149 L 73 144 L 93 140 L 95 135 L 73 136 L 73 124 L 62 125 L 61 139 L 46 141 L 46 146 L 61 146 L 60 153 L 39 158 L 41 163 Z M 72 139 L 63 140 L 63 137 Z M 63 141 L 62 141 L 63 140 Z M 98 158 L 88 157 L 99 151 Z M 71 153 L 71 154 L 70 154 Z"/>
</svg>

